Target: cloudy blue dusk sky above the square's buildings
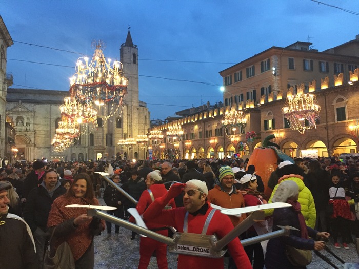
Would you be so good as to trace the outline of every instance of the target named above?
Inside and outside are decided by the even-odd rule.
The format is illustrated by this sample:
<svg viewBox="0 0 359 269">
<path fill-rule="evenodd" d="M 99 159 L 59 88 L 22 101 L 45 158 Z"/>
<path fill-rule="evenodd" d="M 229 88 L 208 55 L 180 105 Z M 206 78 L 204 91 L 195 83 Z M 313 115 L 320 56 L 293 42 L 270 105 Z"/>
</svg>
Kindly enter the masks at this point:
<svg viewBox="0 0 359 269">
<path fill-rule="evenodd" d="M 323 51 L 359 34 L 358 0 L 0 0 L 0 15 L 14 42 L 12 88 L 68 91 L 77 53 L 92 57 L 96 39 L 119 59 L 131 26 L 151 119 L 223 101 L 218 72 L 272 46 L 300 40 Z"/>
</svg>

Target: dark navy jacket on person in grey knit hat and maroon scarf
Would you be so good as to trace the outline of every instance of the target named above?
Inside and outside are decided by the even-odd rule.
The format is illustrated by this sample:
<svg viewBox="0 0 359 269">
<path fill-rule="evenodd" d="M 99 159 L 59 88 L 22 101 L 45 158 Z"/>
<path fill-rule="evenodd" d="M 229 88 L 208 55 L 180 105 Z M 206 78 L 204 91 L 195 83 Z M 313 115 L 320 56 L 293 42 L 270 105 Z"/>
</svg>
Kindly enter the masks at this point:
<svg viewBox="0 0 359 269">
<path fill-rule="evenodd" d="M 278 225 L 289 225 L 300 229 L 298 215 L 291 208 L 275 209 L 273 213 L 273 232 L 280 230 Z M 317 231 L 307 227 L 308 235 L 316 237 Z M 288 269 L 288 268 L 305 268 L 293 266 L 286 256 L 286 244 L 303 250 L 314 250 L 314 240 L 301 238 L 301 231 L 290 230 L 289 236 L 280 236 L 268 241 L 266 253 L 267 269 Z"/>
</svg>

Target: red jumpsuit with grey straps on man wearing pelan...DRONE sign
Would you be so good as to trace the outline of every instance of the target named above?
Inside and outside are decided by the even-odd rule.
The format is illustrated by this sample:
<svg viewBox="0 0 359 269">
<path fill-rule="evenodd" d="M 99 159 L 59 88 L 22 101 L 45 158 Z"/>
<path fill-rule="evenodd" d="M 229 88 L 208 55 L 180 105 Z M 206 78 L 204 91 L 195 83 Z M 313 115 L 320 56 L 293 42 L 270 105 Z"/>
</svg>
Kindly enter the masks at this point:
<svg viewBox="0 0 359 269">
<path fill-rule="evenodd" d="M 208 202 L 207 202 L 208 203 Z M 188 214 L 188 233 L 201 234 L 204 223 L 207 219 L 208 214 L 212 208 L 208 203 L 209 208 L 206 215 L 198 214 L 193 216 Z M 185 208 L 175 208 L 170 210 L 162 210 L 165 204 L 163 199 L 156 199 L 151 206 L 144 213 L 144 220 L 148 221 L 155 219 L 156 222 L 162 223 L 163 225 L 175 227 L 178 232 L 183 232 L 184 218 L 186 214 Z M 207 235 L 216 234 L 218 238 L 224 237 L 231 230 L 233 230 L 233 224 L 227 215 L 223 215 L 220 211 L 215 211 L 211 222 L 208 226 Z M 236 237 L 228 245 L 229 252 L 233 258 L 237 268 L 251 269 L 252 266 L 249 262 L 248 256 L 243 249 L 240 239 Z M 178 269 L 223 269 L 223 258 L 208 258 L 200 256 L 190 256 L 179 254 L 178 256 Z"/>
</svg>

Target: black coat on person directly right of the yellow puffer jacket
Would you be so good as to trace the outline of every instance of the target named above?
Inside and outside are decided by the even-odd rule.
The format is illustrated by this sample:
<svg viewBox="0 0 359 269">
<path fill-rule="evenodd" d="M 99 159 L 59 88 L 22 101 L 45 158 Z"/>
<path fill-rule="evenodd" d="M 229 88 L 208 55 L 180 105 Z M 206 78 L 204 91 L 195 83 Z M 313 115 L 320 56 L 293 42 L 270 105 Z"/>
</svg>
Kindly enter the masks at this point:
<svg viewBox="0 0 359 269">
<path fill-rule="evenodd" d="M 316 211 L 325 210 L 329 201 L 329 179 L 324 170 L 308 173 L 308 188 L 311 191 Z"/>
</svg>

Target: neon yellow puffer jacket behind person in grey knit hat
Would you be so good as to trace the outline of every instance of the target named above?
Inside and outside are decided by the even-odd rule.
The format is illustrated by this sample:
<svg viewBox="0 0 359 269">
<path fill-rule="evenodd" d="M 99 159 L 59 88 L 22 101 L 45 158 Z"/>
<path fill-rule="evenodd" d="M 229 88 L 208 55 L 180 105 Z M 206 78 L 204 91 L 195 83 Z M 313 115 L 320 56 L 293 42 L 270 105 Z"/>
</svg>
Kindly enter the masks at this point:
<svg viewBox="0 0 359 269">
<path fill-rule="evenodd" d="M 309 189 L 304 185 L 302 176 L 291 174 L 291 175 L 285 175 L 285 176 L 281 177 L 278 180 L 278 184 L 274 187 L 274 190 L 272 192 L 272 195 L 270 196 L 268 203 L 272 202 L 273 195 L 274 195 L 275 191 L 277 190 L 278 185 L 282 181 L 286 181 L 286 180 L 291 180 L 291 181 L 294 181 L 295 183 L 297 183 L 297 185 L 299 187 L 298 202 L 301 204 L 301 212 L 304 216 L 305 223 L 307 224 L 307 226 L 314 229 L 315 220 L 316 220 L 314 198 L 313 198 L 312 193 L 309 191 Z M 274 211 L 273 209 L 265 210 L 265 215 L 270 216 L 273 214 L 273 211 Z"/>
</svg>

